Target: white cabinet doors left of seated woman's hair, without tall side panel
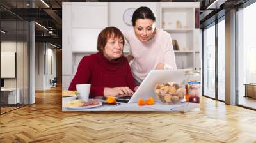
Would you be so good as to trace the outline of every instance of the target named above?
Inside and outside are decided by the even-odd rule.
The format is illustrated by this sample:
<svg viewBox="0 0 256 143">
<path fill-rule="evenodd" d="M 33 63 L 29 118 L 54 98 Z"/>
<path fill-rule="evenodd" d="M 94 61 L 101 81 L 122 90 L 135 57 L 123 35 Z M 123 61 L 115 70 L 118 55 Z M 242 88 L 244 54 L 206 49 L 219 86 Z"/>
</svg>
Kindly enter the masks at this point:
<svg viewBox="0 0 256 143">
<path fill-rule="evenodd" d="M 72 3 L 72 52 L 97 52 L 97 38 L 108 27 L 108 3 Z"/>
</svg>

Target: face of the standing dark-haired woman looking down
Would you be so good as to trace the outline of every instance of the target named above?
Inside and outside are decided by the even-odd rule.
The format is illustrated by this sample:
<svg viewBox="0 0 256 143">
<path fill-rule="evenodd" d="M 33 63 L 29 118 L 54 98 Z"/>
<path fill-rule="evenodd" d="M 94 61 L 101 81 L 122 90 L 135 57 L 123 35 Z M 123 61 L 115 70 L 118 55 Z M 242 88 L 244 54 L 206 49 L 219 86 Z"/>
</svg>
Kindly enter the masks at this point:
<svg viewBox="0 0 256 143">
<path fill-rule="evenodd" d="M 140 41 L 148 41 L 154 37 L 154 21 L 151 19 L 137 19 L 135 21 L 134 31 Z"/>
</svg>

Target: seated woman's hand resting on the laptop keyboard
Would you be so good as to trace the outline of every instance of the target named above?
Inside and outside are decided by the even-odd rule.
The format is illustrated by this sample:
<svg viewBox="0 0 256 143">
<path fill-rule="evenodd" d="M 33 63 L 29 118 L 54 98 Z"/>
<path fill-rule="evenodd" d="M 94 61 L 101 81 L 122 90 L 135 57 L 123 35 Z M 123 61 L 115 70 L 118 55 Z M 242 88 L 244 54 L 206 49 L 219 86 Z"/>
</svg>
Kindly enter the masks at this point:
<svg viewBox="0 0 256 143">
<path fill-rule="evenodd" d="M 104 88 L 104 96 L 127 96 L 132 95 L 133 91 L 129 87 Z"/>
</svg>

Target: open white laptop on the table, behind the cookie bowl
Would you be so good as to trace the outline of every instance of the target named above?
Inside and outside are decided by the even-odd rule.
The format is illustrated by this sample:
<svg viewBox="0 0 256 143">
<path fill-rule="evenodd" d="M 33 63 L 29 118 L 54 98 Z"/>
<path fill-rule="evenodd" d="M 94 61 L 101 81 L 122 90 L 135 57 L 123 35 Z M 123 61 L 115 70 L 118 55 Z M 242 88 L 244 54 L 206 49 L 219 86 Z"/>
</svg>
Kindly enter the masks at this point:
<svg viewBox="0 0 256 143">
<path fill-rule="evenodd" d="M 163 84 L 164 82 L 177 82 L 177 84 L 181 84 L 184 87 L 184 72 L 185 70 L 151 70 L 132 96 L 118 97 L 116 101 L 137 103 L 139 98 L 146 100 L 147 98 L 155 97 L 154 88 L 156 84 Z"/>
</svg>

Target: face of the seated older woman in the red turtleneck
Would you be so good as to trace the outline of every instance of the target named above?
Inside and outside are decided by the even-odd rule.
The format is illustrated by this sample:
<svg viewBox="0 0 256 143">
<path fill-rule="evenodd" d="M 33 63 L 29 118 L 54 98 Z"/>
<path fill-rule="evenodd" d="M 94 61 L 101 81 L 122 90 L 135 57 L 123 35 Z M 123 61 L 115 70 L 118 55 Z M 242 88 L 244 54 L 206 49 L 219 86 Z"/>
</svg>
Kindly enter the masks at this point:
<svg viewBox="0 0 256 143">
<path fill-rule="evenodd" d="M 105 48 L 103 50 L 104 56 L 109 60 L 115 60 L 122 56 L 123 54 L 123 40 L 122 38 L 108 38 Z"/>
</svg>

